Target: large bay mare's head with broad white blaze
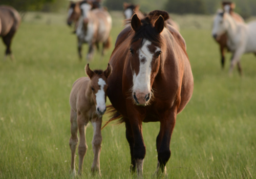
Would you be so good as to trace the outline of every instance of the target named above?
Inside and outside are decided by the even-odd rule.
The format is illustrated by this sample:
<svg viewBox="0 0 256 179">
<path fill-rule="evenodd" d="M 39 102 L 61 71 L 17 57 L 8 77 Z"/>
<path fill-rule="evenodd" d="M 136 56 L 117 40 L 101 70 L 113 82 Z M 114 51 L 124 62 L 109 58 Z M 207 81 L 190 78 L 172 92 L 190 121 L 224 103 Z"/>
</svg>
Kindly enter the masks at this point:
<svg viewBox="0 0 256 179">
<path fill-rule="evenodd" d="M 142 20 L 137 14 L 131 19 L 134 36 L 130 43 L 129 60 L 133 72 L 131 90 L 136 105 L 145 106 L 152 98 L 152 85 L 159 71 L 164 45 L 160 33 L 168 17 L 165 11 L 152 11 Z"/>
</svg>

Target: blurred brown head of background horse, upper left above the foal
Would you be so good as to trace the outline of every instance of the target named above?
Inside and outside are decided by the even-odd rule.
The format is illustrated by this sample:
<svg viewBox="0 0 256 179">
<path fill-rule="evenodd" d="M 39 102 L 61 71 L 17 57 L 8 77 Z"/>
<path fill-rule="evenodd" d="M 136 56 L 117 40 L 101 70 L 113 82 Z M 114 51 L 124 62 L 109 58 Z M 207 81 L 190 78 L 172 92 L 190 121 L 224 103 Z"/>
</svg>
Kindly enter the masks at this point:
<svg viewBox="0 0 256 179">
<path fill-rule="evenodd" d="M 71 1 L 69 5 L 67 24 L 71 26 L 73 21 L 77 21 L 79 19 L 80 14 L 81 14 L 81 11 L 79 7 L 79 3 L 75 3 Z"/>
</svg>

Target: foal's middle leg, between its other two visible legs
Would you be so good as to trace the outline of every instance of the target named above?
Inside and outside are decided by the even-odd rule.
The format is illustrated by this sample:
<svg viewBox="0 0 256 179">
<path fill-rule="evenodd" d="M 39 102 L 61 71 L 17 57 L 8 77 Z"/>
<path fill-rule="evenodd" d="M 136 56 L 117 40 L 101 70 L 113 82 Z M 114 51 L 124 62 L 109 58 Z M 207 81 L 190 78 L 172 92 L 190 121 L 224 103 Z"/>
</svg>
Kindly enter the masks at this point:
<svg viewBox="0 0 256 179">
<path fill-rule="evenodd" d="M 86 144 L 86 125 L 88 124 L 88 122 L 86 121 L 86 118 L 84 118 L 84 116 L 80 114 L 77 117 L 77 124 L 78 124 L 79 137 L 80 137 L 80 142 L 78 146 L 78 155 L 79 155 L 78 174 L 81 175 L 84 155 L 86 155 L 86 151 L 88 148 Z"/>
</svg>

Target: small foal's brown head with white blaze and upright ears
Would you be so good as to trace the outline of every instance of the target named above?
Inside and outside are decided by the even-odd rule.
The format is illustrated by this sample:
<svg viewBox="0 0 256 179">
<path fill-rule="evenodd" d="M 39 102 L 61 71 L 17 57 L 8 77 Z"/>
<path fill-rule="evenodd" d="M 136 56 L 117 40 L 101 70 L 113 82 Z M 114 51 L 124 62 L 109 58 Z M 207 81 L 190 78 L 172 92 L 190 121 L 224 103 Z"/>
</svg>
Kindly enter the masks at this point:
<svg viewBox="0 0 256 179">
<path fill-rule="evenodd" d="M 112 66 L 108 64 L 108 68 L 105 71 L 94 70 L 89 68 L 89 64 L 86 65 L 86 74 L 91 79 L 91 85 L 89 86 L 92 92 L 92 98 L 96 105 L 96 111 L 98 115 L 103 115 L 106 110 L 106 92 L 108 90 L 107 79 L 112 72 Z"/>
</svg>

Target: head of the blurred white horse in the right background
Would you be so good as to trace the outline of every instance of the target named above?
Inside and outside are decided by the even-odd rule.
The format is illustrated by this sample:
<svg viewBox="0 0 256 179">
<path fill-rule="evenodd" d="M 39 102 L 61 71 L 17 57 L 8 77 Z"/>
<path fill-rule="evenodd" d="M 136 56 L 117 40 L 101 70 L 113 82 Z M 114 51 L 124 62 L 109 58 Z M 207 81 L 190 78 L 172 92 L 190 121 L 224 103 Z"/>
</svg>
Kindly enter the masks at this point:
<svg viewBox="0 0 256 179">
<path fill-rule="evenodd" d="M 229 15 L 230 6 L 224 7 L 225 11 L 219 10 L 214 18 L 214 24 L 212 27 L 212 37 L 218 39 L 221 35 L 226 33 L 228 27 L 228 20 L 231 18 Z"/>
</svg>

